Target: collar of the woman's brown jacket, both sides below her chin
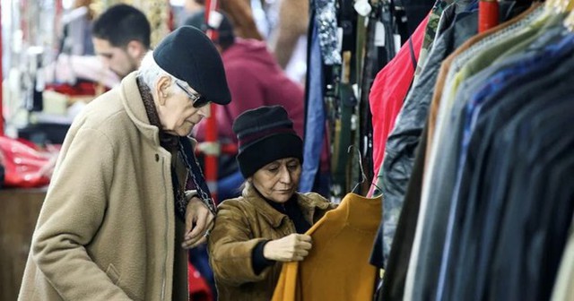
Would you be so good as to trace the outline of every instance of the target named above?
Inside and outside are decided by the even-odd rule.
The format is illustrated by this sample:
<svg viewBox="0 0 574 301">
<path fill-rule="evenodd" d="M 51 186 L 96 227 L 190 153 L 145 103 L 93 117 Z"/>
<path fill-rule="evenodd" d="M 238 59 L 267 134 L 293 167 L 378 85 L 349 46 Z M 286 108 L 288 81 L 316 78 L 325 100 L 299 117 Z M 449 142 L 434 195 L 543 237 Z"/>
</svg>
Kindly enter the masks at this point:
<svg viewBox="0 0 574 301">
<path fill-rule="evenodd" d="M 314 224 L 313 216 L 317 208 L 326 210 L 329 207 L 328 202 L 311 199 L 305 194 L 295 193 L 295 196 L 297 197 L 297 203 L 300 206 L 301 213 L 310 225 Z M 249 186 L 243 191 L 243 197 L 247 199 L 248 202 L 253 203 L 259 214 L 261 214 L 273 228 L 278 228 L 281 226 L 283 219 L 288 218 L 287 215 L 276 211 L 252 186 Z"/>
</svg>

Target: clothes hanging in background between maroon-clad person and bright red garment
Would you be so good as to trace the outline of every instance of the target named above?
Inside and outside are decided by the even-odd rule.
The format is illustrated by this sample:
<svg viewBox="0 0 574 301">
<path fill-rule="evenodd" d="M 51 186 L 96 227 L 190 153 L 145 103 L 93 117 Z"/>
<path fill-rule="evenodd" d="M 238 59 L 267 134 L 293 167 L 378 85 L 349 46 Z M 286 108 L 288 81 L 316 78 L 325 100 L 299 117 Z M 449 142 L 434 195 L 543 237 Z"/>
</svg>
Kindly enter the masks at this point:
<svg viewBox="0 0 574 301">
<path fill-rule="evenodd" d="M 311 1 L 300 191 L 316 191 L 340 202 L 361 177 L 360 168 L 350 163 L 356 154 L 346 152 L 350 145 L 361 150 L 365 174 L 374 176 L 370 87 L 374 74 L 395 56 L 413 24 L 424 18 L 422 11 L 431 8 L 425 2 Z M 420 42 L 409 42 L 411 53 L 404 56 L 414 58 L 414 65 L 418 56 L 414 47 Z M 366 183 L 355 193 L 366 194 L 369 188 Z"/>
</svg>

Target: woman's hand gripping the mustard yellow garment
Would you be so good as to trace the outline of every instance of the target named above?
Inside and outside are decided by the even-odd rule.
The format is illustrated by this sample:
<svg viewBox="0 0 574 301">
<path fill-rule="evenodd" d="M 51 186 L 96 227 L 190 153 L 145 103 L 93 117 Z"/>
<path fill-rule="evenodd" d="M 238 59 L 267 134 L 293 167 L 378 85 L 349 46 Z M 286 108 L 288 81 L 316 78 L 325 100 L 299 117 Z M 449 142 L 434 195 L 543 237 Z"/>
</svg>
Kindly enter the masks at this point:
<svg viewBox="0 0 574 301">
<path fill-rule="evenodd" d="M 263 256 L 277 262 L 300 262 L 310 249 L 311 236 L 294 233 L 265 244 Z"/>
</svg>

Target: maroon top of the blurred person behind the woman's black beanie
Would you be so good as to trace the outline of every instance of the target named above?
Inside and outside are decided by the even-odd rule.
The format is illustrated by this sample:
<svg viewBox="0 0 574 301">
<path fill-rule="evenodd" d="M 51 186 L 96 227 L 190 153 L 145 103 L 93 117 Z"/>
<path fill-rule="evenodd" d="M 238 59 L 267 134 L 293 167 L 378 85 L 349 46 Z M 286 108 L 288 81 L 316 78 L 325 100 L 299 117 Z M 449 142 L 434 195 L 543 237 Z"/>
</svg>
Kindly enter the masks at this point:
<svg viewBox="0 0 574 301">
<path fill-rule="evenodd" d="M 215 106 L 220 137 L 237 142 L 231 129 L 233 120 L 248 109 L 272 105 L 285 107 L 293 129 L 303 137 L 303 87 L 283 73 L 265 42 L 237 38 L 235 44 L 222 53 L 222 60 L 231 102 L 227 106 Z M 202 121 L 195 128 L 200 142 L 205 141 L 205 125 Z"/>
</svg>

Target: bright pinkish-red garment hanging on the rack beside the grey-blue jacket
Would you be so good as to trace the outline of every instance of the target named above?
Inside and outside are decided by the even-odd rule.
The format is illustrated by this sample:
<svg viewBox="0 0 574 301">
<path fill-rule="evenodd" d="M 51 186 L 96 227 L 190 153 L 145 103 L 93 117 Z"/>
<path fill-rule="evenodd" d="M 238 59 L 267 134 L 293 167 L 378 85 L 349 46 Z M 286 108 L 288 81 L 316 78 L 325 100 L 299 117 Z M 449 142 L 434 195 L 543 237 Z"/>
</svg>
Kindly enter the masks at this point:
<svg viewBox="0 0 574 301">
<path fill-rule="evenodd" d="M 414 30 L 413 41 L 414 56 L 419 59 L 424 30 L 429 17 L 427 16 Z M 414 69 L 411 47 L 409 42 L 404 43 L 396 56 L 377 73 L 377 77 L 370 88 L 369 102 L 373 120 L 373 170 L 378 175 L 378 169 L 385 156 L 385 144 L 388 134 L 395 126 L 395 119 L 403 107 L 406 93 L 413 82 Z"/>
</svg>

